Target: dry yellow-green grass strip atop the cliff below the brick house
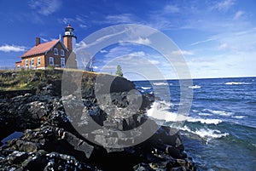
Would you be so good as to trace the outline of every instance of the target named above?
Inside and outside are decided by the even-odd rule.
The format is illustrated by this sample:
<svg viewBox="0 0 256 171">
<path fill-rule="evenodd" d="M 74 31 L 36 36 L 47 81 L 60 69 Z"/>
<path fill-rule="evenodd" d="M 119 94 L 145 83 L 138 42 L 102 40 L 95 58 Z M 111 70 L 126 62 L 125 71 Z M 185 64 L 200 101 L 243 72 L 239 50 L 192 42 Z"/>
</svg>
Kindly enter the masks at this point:
<svg viewBox="0 0 256 171">
<path fill-rule="evenodd" d="M 107 73 L 96 73 L 92 71 L 82 71 L 72 68 L 53 68 L 47 70 L 23 70 L 20 71 L 1 71 L 0 70 L 0 91 L 39 89 L 49 83 L 61 81 L 63 72 L 67 75 L 76 76 L 76 73 L 82 74 L 82 84 L 85 91 L 90 91 L 96 81 L 96 77 L 101 75 L 111 76 Z M 111 76 L 113 77 L 113 76 Z M 74 81 L 74 80 L 71 80 Z"/>
</svg>

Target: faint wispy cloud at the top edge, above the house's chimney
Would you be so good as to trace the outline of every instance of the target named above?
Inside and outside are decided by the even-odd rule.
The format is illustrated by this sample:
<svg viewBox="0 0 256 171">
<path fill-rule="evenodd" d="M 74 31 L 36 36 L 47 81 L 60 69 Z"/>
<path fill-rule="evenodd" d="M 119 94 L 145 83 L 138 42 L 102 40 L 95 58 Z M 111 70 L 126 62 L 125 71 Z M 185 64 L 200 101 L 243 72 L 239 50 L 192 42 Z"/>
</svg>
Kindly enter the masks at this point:
<svg viewBox="0 0 256 171">
<path fill-rule="evenodd" d="M 28 3 L 31 9 L 34 9 L 38 14 L 49 15 L 55 13 L 61 8 L 60 0 L 31 0 Z"/>
</svg>

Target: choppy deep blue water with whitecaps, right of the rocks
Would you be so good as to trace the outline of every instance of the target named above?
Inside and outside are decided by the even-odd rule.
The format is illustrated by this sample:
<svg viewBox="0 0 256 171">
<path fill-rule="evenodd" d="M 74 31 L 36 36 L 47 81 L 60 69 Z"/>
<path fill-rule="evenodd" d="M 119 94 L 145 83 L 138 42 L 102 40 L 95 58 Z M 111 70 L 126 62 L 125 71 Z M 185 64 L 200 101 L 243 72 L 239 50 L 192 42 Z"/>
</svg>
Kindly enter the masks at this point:
<svg viewBox="0 0 256 171">
<path fill-rule="evenodd" d="M 135 83 L 141 92 L 154 94 L 155 103 L 165 104 L 170 116 L 183 105 L 177 80 Z M 195 79 L 190 88 L 192 105 L 177 128 L 199 170 L 255 171 L 256 77 Z"/>
</svg>

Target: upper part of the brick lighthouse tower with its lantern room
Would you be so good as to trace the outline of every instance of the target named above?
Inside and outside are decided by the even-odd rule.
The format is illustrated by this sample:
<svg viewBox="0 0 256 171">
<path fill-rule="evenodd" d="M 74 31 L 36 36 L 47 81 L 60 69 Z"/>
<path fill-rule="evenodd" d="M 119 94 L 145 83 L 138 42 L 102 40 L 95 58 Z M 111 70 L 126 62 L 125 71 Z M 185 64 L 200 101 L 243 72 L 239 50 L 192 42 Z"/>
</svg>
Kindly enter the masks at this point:
<svg viewBox="0 0 256 171">
<path fill-rule="evenodd" d="M 76 45 L 77 37 L 74 34 L 74 29 L 70 24 L 65 28 L 65 33 L 63 35 L 63 43 L 69 50 L 69 52 L 73 51 L 74 46 Z"/>
</svg>

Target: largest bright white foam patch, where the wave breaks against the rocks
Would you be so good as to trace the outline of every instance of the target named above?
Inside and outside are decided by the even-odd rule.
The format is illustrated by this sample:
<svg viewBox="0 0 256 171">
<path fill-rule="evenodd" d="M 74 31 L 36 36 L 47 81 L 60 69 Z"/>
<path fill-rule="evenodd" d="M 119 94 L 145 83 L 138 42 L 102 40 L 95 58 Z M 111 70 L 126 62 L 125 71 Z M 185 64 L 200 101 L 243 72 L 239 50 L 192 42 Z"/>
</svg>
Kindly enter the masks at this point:
<svg viewBox="0 0 256 171">
<path fill-rule="evenodd" d="M 185 121 L 186 116 L 169 111 L 172 104 L 166 101 L 155 101 L 151 108 L 148 109 L 148 117 L 153 117 L 166 122 Z"/>
</svg>

